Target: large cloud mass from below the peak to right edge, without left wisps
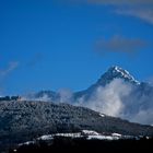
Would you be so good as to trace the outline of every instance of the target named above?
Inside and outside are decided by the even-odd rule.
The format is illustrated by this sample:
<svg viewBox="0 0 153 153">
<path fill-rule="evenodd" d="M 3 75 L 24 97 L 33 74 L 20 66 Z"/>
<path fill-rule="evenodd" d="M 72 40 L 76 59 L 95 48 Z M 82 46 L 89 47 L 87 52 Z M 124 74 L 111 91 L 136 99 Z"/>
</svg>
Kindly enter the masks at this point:
<svg viewBox="0 0 153 153">
<path fill-rule="evenodd" d="M 150 96 L 137 93 L 132 84 L 115 79 L 106 86 L 99 86 L 90 99 L 79 98 L 75 105 L 132 122 L 153 125 L 152 99 Z"/>
</svg>

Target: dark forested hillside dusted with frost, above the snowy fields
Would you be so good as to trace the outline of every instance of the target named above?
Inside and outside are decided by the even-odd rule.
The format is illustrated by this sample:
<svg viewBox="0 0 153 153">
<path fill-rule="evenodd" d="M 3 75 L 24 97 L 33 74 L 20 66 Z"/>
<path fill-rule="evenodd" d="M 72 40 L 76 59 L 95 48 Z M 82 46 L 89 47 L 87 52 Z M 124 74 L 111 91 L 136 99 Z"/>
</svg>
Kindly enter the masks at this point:
<svg viewBox="0 0 153 153">
<path fill-rule="evenodd" d="M 94 130 L 126 136 L 153 136 L 153 127 L 131 123 L 83 107 L 48 102 L 1 101 L 0 149 L 43 134 Z"/>
</svg>

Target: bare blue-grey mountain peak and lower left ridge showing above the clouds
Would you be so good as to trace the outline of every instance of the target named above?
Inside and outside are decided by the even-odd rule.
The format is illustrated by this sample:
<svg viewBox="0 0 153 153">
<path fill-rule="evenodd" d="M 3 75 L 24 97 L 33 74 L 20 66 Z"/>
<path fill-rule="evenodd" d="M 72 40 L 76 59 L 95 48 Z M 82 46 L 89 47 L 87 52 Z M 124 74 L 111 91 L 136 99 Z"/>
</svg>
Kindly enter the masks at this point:
<svg viewBox="0 0 153 153">
<path fill-rule="evenodd" d="M 140 82 L 137 81 L 127 70 L 123 70 L 118 66 L 113 66 L 97 80 L 95 84 L 91 85 L 87 90 L 73 93 L 72 94 L 73 98 L 75 99 L 84 95 L 90 96 L 97 87 L 105 86 L 115 79 L 121 79 L 136 85 L 140 85 Z M 61 97 L 60 93 L 54 91 L 40 91 L 38 93 L 31 93 L 26 95 L 25 98 L 38 101 L 51 101 L 58 103 Z"/>
</svg>

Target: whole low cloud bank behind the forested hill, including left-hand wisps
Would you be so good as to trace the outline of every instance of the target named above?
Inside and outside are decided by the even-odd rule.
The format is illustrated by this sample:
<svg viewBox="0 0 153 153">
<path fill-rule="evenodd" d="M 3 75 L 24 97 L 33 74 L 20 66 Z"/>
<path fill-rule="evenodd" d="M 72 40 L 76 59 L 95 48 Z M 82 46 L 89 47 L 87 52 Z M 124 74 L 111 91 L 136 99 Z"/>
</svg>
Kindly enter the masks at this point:
<svg viewBox="0 0 153 153">
<path fill-rule="evenodd" d="M 153 125 L 153 89 L 146 92 L 139 85 L 133 85 L 122 79 L 114 79 L 105 86 L 98 86 L 95 91 L 74 97 L 70 90 L 60 90 L 56 98 L 44 94 L 37 101 L 55 103 L 69 103 L 75 106 L 87 107 L 95 111 L 113 117 L 119 117 L 143 125 Z"/>
</svg>

